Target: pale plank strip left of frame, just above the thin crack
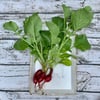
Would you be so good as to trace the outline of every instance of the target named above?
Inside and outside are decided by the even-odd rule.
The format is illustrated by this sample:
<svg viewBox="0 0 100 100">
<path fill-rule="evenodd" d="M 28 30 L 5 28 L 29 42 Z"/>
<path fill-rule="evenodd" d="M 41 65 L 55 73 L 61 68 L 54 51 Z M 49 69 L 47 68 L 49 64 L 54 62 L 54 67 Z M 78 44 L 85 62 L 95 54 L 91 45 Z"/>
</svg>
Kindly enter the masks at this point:
<svg viewBox="0 0 100 100">
<path fill-rule="evenodd" d="M 29 65 L 0 65 L 0 77 L 28 76 Z"/>
</svg>

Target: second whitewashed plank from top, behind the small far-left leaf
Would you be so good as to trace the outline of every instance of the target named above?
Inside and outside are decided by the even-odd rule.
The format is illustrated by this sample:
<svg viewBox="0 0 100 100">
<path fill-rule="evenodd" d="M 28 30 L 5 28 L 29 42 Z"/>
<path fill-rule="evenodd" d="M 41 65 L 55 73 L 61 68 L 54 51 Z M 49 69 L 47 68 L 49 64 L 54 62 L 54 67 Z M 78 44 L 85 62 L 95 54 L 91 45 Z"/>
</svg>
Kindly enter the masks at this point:
<svg viewBox="0 0 100 100">
<path fill-rule="evenodd" d="M 3 23 L 6 21 L 15 21 L 20 28 L 23 26 L 23 20 L 26 16 L 30 16 L 31 14 L 0 14 L 0 38 L 16 38 L 16 35 L 12 32 L 5 31 L 3 29 Z M 62 16 L 62 14 L 39 14 L 41 19 L 44 21 L 50 20 L 53 16 Z M 91 25 L 83 29 L 81 33 L 86 33 L 88 37 L 100 38 L 100 13 L 94 14 L 94 19 Z"/>
</svg>

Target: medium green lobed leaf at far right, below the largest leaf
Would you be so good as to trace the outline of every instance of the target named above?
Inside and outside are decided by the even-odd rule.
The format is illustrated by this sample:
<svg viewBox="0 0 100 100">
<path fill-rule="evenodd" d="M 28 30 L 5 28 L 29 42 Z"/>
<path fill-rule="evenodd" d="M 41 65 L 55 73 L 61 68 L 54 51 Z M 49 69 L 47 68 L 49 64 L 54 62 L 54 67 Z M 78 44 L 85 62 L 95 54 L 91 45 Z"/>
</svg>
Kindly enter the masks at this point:
<svg viewBox="0 0 100 100">
<path fill-rule="evenodd" d="M 91 48 L 85 34 L 76 35 L 74 46 L 81 51 L 89 50 Z"/>
</svg>

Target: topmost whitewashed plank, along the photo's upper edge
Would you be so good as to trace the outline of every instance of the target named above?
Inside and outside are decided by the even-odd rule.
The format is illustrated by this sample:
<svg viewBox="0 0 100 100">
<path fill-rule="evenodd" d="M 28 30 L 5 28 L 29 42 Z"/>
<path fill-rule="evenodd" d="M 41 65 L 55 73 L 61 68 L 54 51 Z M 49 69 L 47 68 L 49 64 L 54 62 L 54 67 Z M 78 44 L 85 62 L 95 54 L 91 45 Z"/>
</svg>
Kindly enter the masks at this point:
<svg viewBox="0 0 100 100">
<path fill-rule="evenodd" d="M 0 13 L 61 12 L 62 4 L 77 9 L 82 3 L 83 0 L 1 0 Z M 100 0 L 86 0 L 84 4 L 91 6 L 94 12 L 100 12 Z"/>
</svg>

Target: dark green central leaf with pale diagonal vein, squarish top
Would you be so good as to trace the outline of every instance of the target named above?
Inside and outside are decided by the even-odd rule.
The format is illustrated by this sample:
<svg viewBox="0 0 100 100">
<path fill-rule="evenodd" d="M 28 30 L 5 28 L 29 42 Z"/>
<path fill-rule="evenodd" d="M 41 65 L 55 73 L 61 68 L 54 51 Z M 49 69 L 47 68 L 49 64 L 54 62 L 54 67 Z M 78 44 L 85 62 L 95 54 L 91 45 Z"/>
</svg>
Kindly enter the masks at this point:
<svg viewBox="0 0 100 100">
<path fill-rule="evenodd" d="M 49 31 L 42 30 L 40 31 L 41 41 L 44 47 L 50 46 L 51 44 L 51 34 Z"/>
</svg>

